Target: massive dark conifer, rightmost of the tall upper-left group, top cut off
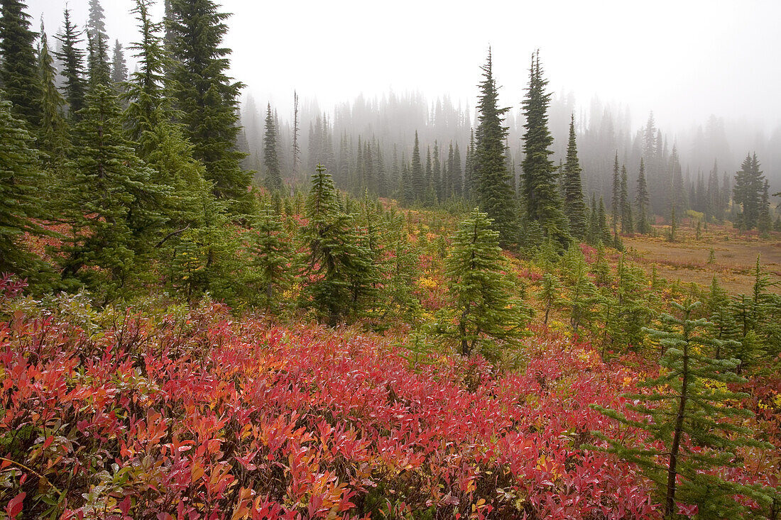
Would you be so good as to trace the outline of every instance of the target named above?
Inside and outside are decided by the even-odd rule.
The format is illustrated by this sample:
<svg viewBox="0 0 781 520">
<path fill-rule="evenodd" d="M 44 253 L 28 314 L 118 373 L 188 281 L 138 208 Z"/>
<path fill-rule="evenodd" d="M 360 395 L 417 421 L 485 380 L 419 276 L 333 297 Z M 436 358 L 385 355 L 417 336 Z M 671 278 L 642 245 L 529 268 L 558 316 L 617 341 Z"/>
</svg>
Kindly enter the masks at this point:
<svg viewBox="0 0 781 520">
<path fill-rule="evenodd" d="M 169 31 L 174 94 L 182 123 L 204 163 L 205 177 L 234 214 L 251 212 L 250 173 L 241 169 L 244 154 L 236 148 L 238 94 L 243 84 L 226 76 L 230 50 L 221 46 L 229 16 L 212 0 L 171 0 Z"/>
</svg>

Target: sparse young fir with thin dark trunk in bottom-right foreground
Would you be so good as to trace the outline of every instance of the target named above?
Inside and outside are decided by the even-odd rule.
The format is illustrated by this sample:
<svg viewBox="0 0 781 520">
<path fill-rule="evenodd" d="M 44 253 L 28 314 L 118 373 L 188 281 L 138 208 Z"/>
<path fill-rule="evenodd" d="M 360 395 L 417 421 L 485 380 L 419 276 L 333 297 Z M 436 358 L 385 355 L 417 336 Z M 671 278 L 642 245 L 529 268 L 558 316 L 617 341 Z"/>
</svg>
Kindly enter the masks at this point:
<svg viewBox="0 0 781 520">
<path fill-rule="evenodd" d="M 751 415 L 730 406 L 746 394 L 726 386 L 745 379 L 733 372 L 738 360 L 712 357 L 726 342 L 710 337 L 711 323 L 693 318 L 699 302 L 672 301 L 672 305 L 681 316 L 663 315 L 665 328 L 648 330 L 665 349 L 662 374 L 643 383 L 650 393 L 625 396 L 629 403 L 640 401 L 627 404 L 633 417 L 595 407 L 622 424 L 645 430 L 651 442 L 633 447 L 626 446 L 624 436 L 621 440 L 599 436 L 608 440 L 608 451 L 639 465 L 656 483 L 665 518 L 677 518 L 676 502 L 696 504 L 702 518 L 739 518 L 742 506 L 734 495 L 763 497 L 709 470 L 737 465 L 734 451 L 740 447 L 765 445 L 747 438 L 750 430 L 730 420 Z"/>
</svg>

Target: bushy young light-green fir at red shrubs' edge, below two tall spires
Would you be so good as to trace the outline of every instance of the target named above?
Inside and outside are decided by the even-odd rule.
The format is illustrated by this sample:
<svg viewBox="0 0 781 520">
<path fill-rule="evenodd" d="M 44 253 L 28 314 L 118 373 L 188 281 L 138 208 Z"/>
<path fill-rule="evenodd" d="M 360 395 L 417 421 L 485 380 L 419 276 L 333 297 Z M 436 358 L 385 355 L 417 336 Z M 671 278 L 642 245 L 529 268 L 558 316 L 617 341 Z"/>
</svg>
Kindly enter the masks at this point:
<svg viewBox="0 0 781 520">
<path fill-rule="evenodd" d="M 477 350 L 495 358 L 500 344 L 519 337 L 522 320 L 512 308 L 512 283 L 505 276 L 499 232 L 486 213 L 475 208 L 452 237 L 446 276 L 455 301 L 455 322 L 462 355 Z"/>
</svg>

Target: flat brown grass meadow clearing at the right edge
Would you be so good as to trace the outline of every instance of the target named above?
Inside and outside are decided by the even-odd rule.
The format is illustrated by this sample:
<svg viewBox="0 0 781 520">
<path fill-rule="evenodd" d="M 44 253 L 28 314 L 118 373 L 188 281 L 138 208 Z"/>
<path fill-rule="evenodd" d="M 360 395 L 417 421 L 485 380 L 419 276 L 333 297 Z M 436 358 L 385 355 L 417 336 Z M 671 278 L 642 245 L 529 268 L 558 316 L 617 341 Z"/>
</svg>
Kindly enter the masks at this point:
<svg viewBox="0 0 781 520">
<path fill-rule="evenodd" d="M 760 237 L 756 231 L 740 233 L 731 225 L 708 226 L 697 233 L 693 226 L 676 231 L 674 242 L 667 240 L 669 226 L 656 226 L 656 237 L 622 237 L 624 247 L 638 265 L 658 276 L 682 283 L 708 287 L 713 276 L 732 294 L 749 294 L 754 286 L 757 256 L 762 269 L 770 274 L 771 292 L 781 294 L 781 233 Z M 713 261 L 708 262 L 713 251 Z"/>
</svg>

